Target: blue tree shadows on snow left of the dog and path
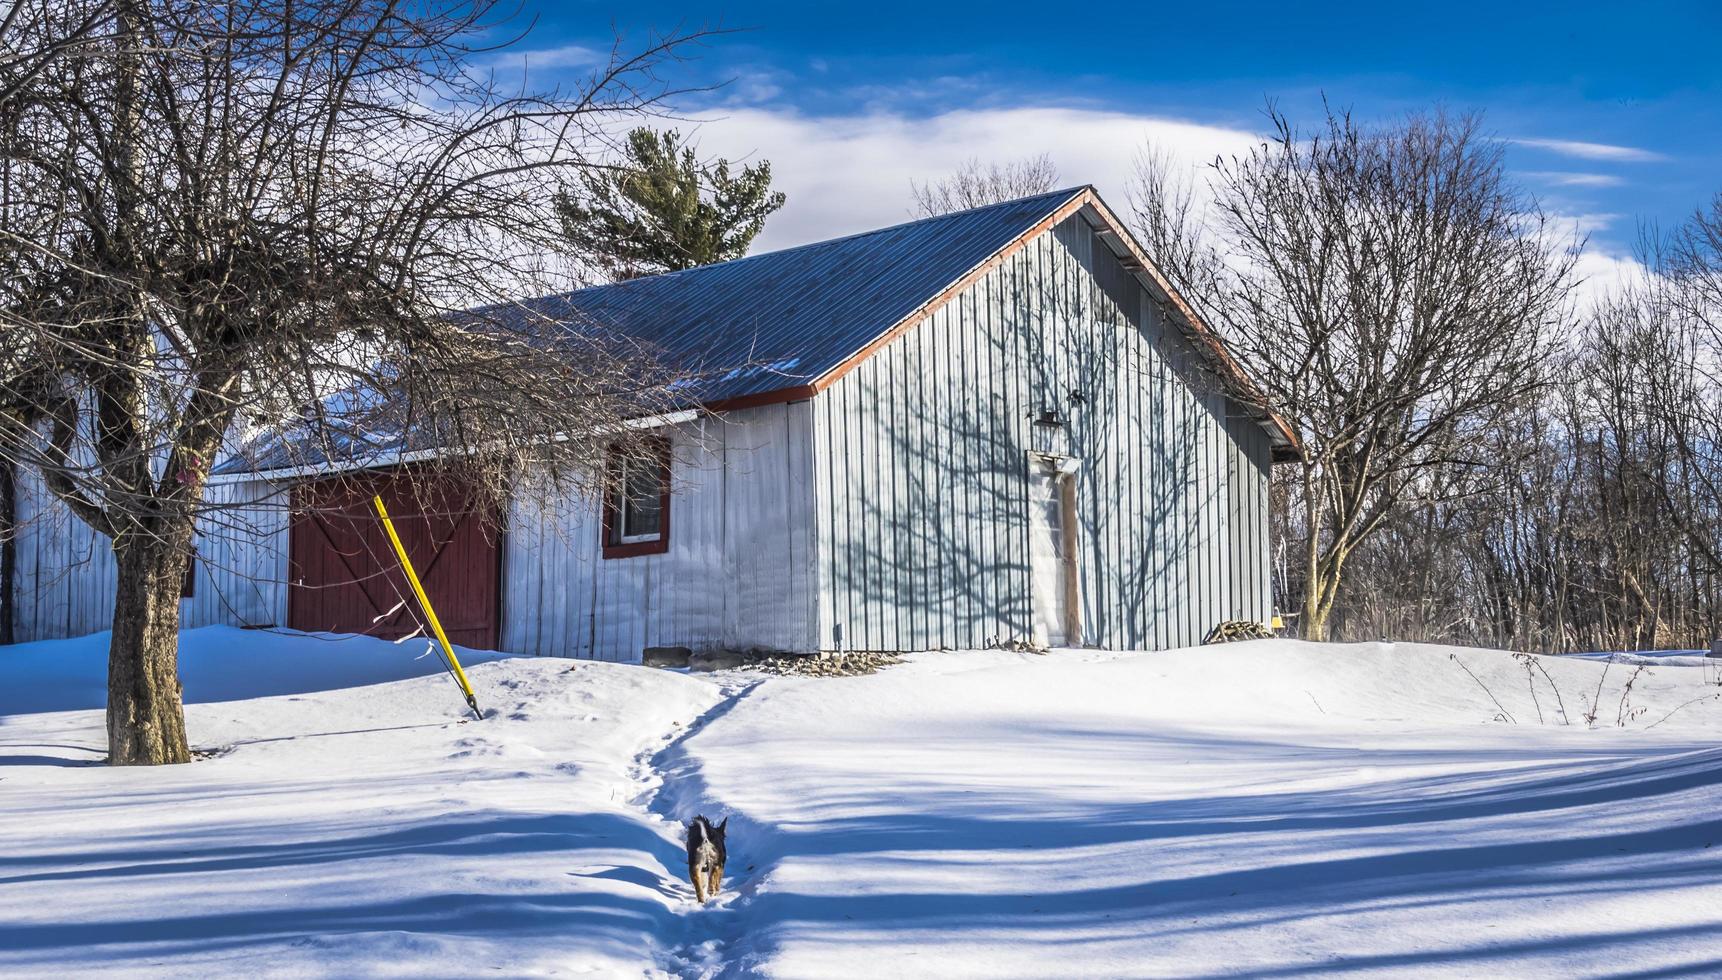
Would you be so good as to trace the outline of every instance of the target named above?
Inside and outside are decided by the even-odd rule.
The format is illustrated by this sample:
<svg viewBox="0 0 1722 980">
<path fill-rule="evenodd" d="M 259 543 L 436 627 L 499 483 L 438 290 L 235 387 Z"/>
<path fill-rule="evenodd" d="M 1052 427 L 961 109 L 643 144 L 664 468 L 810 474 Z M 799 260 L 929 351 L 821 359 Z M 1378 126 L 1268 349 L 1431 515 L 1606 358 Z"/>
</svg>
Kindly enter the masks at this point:
<svg viewBox="0 0 1722 980">
<path fill-rule="evenodd" d="M 227 839 L 236 834 L 269 837 L 305 832 L 257 825 L 234 830 Z M 675 842 L 620 813 L 480 813 L 346 837 L 241 844 L 200 844 L 195 837 L 174 837 L 158 847 L 9 854 L 0 858 L 0 866 L 17 873 L 0 875 L 0 887 L 76 882 L 83 887 L 115 889 L 129 878 L 155 878 L 143 887 L 150 892 L 176 890 L 181 897 L 167 902 L 162 915 L 139 909 L 134 918 L 0 923 L 0 951 L 12 963 L 50 963 L 60 952 L 148 944 L 152 959 L 158 959 L 307 935 L 453 933 L 496 942 L 525 935 L 565 935 L 575 947 L 610 940 L 646 956 L 642 937 L 663 935 L 672 928 L 677 913 L 663 897 L 675 897 L 678 892 L 661 887 L 661 878 L 646 870 L 637 875 L 582 873 L 582 866 L 594 866 L 591 854 L 582 854 L 587 849 L 606 854 L 641 853 L 647 865 L 656 861 L 672 868 L 680 858 Z M 486 880 L 486 858 L 522 854 L 541 856 L 534 861 L 542 866 L 542 873 L 536 875 L 541 887 L 520 889 L 518 882 L 499 884 L 496 890 L 474 887 Z M 353 866 L 343 870 L 343 878 L 369 875 L 386 889 L 403 890 L 405 885 L 418 894 L 389 901 L 325 901 L 325 896 L 351 896 L 351 889 L 319 887 L 320 878 L 331 878 L 315 868 L 348 863 Z M 282 875 L 282 885 L 276 885 L 267 875 L 276 870 L 307 873 Z M 227 899 L 220 899 L 219 908 L 200 901 L 200 877 L 220 873 L 255 873 L 257 901 L 241 908 Z M 653 894 L 582 889 L 577 880 L 580 877 L 625 882 Z"/>
</svg>

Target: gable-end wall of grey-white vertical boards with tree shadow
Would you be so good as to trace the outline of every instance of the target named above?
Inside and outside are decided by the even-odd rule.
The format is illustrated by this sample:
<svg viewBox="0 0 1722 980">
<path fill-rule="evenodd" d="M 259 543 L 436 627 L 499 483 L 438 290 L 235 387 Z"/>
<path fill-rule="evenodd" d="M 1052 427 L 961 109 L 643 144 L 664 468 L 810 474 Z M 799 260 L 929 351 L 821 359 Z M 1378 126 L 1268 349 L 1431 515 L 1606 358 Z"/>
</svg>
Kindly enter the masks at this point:
<svg viewBox="0 0 1722 980">
<path fill-rule="evenodd" d="M 1202 365 L 1080 215 L 861 362 L 811 403 L 816 646 L 1028 641 L 1047 441 L 1080 460 L 1083 642 L 1266 620 L 1269 439 Z"/>
</svg>

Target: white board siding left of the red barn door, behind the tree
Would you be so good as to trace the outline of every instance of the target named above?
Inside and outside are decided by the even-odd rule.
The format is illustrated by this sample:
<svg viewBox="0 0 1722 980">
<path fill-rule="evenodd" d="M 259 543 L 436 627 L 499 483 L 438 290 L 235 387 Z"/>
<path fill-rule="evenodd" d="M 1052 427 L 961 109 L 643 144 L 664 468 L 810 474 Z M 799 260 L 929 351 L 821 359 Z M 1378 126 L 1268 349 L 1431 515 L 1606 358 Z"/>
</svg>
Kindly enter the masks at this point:
<svg viewBox="0 0 1722 980">
<path fill-rule="evenodd" d="M 260 481 L 217 482 L 196 527 L 196 587 L 181 599 L 186 629 L 281 625 L 288 618 L 288 494 Z M 105 630 L 119 570 L 108 539 L 19 468 L 14 636 L 19 642 Z"/>
</svg>

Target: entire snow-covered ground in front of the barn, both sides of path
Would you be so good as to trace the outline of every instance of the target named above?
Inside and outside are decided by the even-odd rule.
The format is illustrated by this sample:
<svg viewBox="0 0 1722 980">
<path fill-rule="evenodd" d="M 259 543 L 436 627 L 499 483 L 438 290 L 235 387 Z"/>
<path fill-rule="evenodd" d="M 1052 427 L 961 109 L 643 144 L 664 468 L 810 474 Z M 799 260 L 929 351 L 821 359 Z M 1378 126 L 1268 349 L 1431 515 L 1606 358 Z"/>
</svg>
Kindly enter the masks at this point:
<svg viewBox="0 0 1722 980">
<path fill-rule="evenodd" d="M 88 641 L 0 649 L 14 687 L 76 708 L 0 703 L 0 973 L 1722 971 L 1713 663 L 1288 641 L 858 679 L 496 660 L 463 722 L 418 646 L 200 644 L 188 722 L 222 751 L 167 770 L 91 765 L 100 711 L 60 692 L 100 691 L 86 649 L 65 667 Z M 246 644 L 324 680 L 200 698 Z M 245 694 L 269 696 L 215 699 Z M 708 908 L 696 811 L 732 816 Z"/>
</svg>

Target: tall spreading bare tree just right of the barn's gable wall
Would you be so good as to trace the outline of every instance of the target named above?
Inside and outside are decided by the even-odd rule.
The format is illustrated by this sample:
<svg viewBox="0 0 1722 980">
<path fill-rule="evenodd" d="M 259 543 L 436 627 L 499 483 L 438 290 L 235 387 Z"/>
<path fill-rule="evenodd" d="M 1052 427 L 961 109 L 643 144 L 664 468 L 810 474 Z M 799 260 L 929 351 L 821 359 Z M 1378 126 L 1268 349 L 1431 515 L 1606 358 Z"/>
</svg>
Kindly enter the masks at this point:
<svg viewBox="0 0 1722 980">
<path fill-rule="evenodd" d="M 1152 153 L 1131 200 L 1150 255 L 1298 429 L 1292 572 L 1302 634 L 1324 639 L 1357 546 L 1453 470 L 1498 462 L 1483 436 L 1543 382 L 1577 243 L 1474 117 L 1269 121 L 1269 141 L 1211 169 L 1212 222 Z"/>
</svg>

